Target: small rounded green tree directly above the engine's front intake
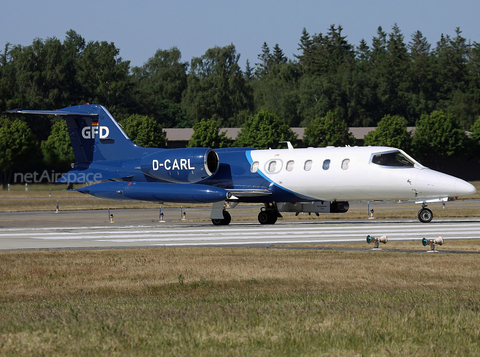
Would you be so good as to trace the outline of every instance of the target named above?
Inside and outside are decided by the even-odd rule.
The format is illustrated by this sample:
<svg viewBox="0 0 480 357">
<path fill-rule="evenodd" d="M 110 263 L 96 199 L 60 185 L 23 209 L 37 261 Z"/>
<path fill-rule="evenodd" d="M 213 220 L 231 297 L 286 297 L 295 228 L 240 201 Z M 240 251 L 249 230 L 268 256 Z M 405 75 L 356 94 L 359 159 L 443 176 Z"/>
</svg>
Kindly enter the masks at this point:
<svg viewBox="0 0 480 357">
<path fill-rule="evenodd" d="M 202 120 L 193 126 L 193 135 L 187 147 L 225 148 L 230 146 L 231 140 L 225 132 L 220 133 L 218 122 L 212 118 Z"/>
</svg>

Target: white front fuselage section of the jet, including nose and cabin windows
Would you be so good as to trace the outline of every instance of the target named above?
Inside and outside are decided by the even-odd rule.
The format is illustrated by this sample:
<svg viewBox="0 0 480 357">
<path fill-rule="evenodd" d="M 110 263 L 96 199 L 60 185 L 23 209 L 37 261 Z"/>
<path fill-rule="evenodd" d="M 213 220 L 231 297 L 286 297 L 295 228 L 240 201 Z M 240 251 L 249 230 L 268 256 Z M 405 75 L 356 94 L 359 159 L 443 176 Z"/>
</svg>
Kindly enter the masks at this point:
<svg viewBox="0 0 480 357">
<path fill-rule="evenodd" d="M 308 200 L 428 202 L 475 193 L 469 183 L 391 147 L 253 150 L 249 155 L 253 171 L 257 166 L 268 181 Z"/>
</svg>

